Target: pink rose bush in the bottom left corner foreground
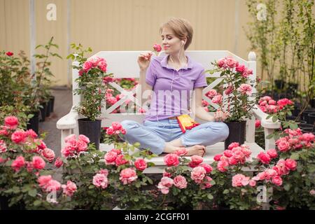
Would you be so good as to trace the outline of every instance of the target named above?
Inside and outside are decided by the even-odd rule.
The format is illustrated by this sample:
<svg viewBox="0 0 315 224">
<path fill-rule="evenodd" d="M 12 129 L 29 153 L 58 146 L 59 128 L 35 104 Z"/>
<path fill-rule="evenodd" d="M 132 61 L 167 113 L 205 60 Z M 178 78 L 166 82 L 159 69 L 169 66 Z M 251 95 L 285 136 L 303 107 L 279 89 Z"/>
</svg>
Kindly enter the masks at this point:
<svg viewBox="0 0 315 224">
<path fill-rule="evenodd" d="M 64 199 L 58 194 L 62 185 L 52 179 L 46 166 L 57 162 L 55 152 L 33 130 L 19 129 L 19 124 L 17 117 L 7 116 L 1 125 L 1 195 L 10 198 L 11 205 L 23 204 L 26 209 L 62 209 Z M 64 193 L 71 196 L 75 188 L 67 183 Z M 49 193 L 55 196 L 50 198 Z"/>
</svg>

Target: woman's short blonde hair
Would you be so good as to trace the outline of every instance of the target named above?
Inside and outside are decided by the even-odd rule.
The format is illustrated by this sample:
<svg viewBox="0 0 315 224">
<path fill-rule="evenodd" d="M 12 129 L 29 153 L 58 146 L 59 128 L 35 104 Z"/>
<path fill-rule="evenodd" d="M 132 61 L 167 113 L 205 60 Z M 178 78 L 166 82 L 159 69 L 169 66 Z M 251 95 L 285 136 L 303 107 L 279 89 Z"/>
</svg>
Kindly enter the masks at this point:
<svg viewBox="0 0 315 224">
<path fill-rule="evenodd" d="M 160 34 L 162 34 L 164 27 L 172 29 L 175 36 L 181 40 L 185 37 L 187 38 L 186 44 L 184 45 L 185 50 L 189 47 L 191 41 L 193 41 L 193 27 L 190 25 L 190 22 L 183 18 L 170 18 L 169 21 L 160 26 Z"/>
</svg>

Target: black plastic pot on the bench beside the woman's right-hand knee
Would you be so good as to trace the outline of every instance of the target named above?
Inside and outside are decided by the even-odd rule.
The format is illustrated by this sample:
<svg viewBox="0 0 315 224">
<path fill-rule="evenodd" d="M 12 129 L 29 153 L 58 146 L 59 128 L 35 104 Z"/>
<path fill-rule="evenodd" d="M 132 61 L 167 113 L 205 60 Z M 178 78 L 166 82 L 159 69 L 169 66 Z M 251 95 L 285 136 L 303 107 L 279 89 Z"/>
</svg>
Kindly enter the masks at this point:
<svg viewBox="0 0 315 224">
<path fill-rule="evenodd" d="M 224 148 L 227 149 L 232 142 L 244 144 L 246 137 L 246 120 L 241 122 L 225 122 L 228 125 L 230 134 L 224 141 Z"/>
</svg>

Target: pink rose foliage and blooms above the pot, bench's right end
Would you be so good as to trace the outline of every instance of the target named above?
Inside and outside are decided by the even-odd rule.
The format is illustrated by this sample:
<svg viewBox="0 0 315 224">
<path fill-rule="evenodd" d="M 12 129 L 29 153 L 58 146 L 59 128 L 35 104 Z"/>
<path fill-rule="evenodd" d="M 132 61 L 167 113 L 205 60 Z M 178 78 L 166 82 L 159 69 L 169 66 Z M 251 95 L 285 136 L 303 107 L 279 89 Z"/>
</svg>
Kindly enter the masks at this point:
<svg viewBox="0 0 315 224">
<path fill-rule="evenodd" d="M 220 73 L 223 78 L 223 94 L 210 90 L 206 96 L 211 99 L 213 104 L 219 106 L 219 111 L 227 115 L 227 121 L 242 121 L 250 118 L 249 111 L 256 104 L 255 80 L 251 80 L 253 70 L 248 69 L 243 64 L 239 64 L 232 56 L 224 57 L 216 62 L 211 62 L 214 69 L 208 70 L 208 73 Z M 233 80 L 233 81 L 231 81 Z M 227 109 L 224 109 L 228 104 Z"/>
</svg>

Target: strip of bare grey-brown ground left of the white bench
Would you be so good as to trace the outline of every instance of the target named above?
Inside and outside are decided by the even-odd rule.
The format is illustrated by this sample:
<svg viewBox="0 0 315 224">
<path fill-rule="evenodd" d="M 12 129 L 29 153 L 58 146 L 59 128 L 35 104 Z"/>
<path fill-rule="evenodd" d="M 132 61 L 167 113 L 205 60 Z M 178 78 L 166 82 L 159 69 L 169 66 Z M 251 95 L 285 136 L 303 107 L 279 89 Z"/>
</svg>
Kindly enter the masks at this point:
<svg viewBox="0 0 315 224">
<path fill-rule="evenodd" d="M 55 96 L 54 112 L 50 113 L 50 117 L 47 117 L 44 122 L 39 123 L 39 132 L 46 132 L 45 144 L 48 148 L 55 151 L 55 155 L 60 155 L 60 137 L 61 132 L 57 130 L 56 123 L 59 118 L 69 113 L 72 106 L 72 93 L 70 89 L 59 88 L 52 90 L 52 94 Z"/>
</svg>

